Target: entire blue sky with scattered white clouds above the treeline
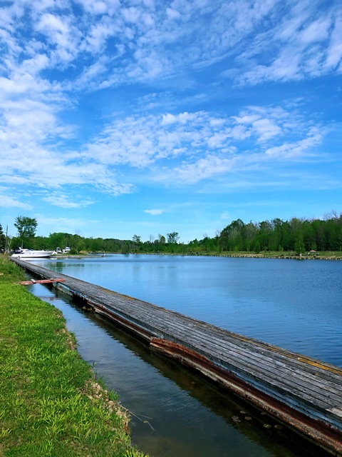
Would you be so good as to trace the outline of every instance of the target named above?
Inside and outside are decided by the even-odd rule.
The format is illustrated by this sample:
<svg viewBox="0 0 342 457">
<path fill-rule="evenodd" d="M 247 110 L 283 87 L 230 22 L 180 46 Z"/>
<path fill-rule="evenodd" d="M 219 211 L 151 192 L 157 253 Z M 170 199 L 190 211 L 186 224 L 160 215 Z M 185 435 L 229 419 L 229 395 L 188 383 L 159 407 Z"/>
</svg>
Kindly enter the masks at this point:
<svg viewBox="0 0 342 457">
<path fill-rule="evenodd" d="M 2 1 L 0 46 L 11 236 L 342 211 L 339 0 Z"/>
</svg>

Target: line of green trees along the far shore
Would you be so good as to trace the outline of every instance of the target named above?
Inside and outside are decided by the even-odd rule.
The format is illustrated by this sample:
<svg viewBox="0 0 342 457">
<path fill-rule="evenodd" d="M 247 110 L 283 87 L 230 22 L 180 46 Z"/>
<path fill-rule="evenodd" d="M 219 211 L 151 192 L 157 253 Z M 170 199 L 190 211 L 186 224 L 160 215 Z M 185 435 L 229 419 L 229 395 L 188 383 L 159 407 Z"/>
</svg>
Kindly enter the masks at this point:
<svg viewBox="0 0 342 457">
<path fill-rule="evenodd" d="M 0 250 L 13 250 L 18 246 L 36 249 L 54 250 L 69 246 L 71 253 L 224 253 L 224 252 L 293 252 L 342 251 L 342 213 L 332 213 L 325 219 L 298 219 L 289 221 L 272 219 L 271 221 L 247 224 L 241 219 L 232 221 L 214 238 L 204 236 L 200 240 L 180 243 L 177 232 L 150 235 L 148 241 L 142 241 L 139 235 L 131 240 L 117 238 L 84 238 L 78 234 L 50 233 L 49 236 L 35 236 L 36 219 L 19 216 L 16 218 L 18 236 L 6 240 L 0 224 Z"/>
</svg>

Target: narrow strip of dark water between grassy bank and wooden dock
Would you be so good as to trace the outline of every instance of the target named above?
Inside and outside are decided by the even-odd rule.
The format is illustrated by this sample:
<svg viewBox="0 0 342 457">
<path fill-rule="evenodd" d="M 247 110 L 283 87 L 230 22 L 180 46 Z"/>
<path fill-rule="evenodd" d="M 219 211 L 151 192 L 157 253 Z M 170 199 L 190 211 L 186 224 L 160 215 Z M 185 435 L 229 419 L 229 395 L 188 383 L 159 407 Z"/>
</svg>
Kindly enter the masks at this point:
<svg viewBox="0 0 342 457">
<path fill-rule="evenodd" d="M 263 411 L 84 311 L 52 286 L 31 286 L 31 292 L 61 309 L 81 356 L 131 412 L 133 443 L 150 456 L 328 456 Z"/>
</svg>

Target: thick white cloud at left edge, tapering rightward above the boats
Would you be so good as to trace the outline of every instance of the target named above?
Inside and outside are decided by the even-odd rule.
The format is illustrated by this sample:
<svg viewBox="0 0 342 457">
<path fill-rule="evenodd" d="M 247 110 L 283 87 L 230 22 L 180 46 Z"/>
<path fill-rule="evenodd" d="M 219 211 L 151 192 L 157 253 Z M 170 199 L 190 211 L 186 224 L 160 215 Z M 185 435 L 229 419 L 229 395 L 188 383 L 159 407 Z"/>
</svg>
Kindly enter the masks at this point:
<svg viewBox="0 0 342 457">
<path fill-rule="evenodd" d="M 0 119 L 1 181 L 48 188 L 93 186 L 113 195 L 133 191 L 131 184 L 118 183 L 115 172 L 103 164 L 65 151 L 63 136 L 68 139 L 68 130 L 58 126 L 46 105 L 9 104 Z"/>
</svg>

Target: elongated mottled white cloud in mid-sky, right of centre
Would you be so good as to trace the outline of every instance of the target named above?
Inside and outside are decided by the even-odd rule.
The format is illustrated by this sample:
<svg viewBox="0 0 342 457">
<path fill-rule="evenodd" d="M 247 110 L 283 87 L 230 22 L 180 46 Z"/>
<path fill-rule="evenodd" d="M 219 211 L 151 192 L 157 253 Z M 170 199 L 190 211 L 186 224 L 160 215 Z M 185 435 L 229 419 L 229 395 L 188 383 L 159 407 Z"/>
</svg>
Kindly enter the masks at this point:
<svg viewBox="0 0 342 457">
<path fill-rule="evenodd" d="M 280 107 L 249 106 L 238 116 L 226 118 L 205 111 L 130 116 L 106 126 L 88 144 L 83 157 L 96 158 L 101 166 L 149 167 L 156 181 L 190 184 L 264 163 L 265 157 L 307 156 L 309 146 L 322 141 L 318 129 L 306 123 L 296 108 L 288 112 Z M 294 141 L 281 143 L 285 136 Z"/>
</svg>

